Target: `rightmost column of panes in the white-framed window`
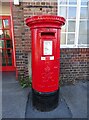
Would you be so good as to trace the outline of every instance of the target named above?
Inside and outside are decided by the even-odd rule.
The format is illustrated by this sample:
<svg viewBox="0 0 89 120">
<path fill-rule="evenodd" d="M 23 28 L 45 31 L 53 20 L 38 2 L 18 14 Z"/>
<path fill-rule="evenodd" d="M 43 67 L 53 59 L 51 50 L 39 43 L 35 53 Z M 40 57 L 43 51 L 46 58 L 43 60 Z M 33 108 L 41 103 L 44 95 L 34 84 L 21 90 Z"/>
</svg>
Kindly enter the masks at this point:
<svg viewBox="0 0 89 120">
<path fill-rule="evenodd" d="M 78 45 L 83 46 L 89 44 L 88 41 L 88 6 L 87 0 L 81 0 L 80 21 L 79 21 L 79 37 Z"/>
</svg>

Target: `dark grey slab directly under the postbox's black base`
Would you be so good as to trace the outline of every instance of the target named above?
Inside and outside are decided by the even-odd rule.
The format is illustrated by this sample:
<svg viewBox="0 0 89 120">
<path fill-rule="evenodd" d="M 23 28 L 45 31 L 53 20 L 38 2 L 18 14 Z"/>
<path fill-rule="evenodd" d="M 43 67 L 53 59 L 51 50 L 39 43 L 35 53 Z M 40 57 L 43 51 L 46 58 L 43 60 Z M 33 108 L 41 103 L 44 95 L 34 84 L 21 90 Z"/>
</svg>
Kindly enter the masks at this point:
<svg viewBox="0 0 89 120">
<path fill-rule="evenodd" d="M 26 108 L 26 118 L 71 118 L 72 114 L 65 100 L 60 95 L 59 105 L 52 111 L 41 112 L 32 105 L 32 92 L 29 93 L 29 99 Z"/>
</svg>

